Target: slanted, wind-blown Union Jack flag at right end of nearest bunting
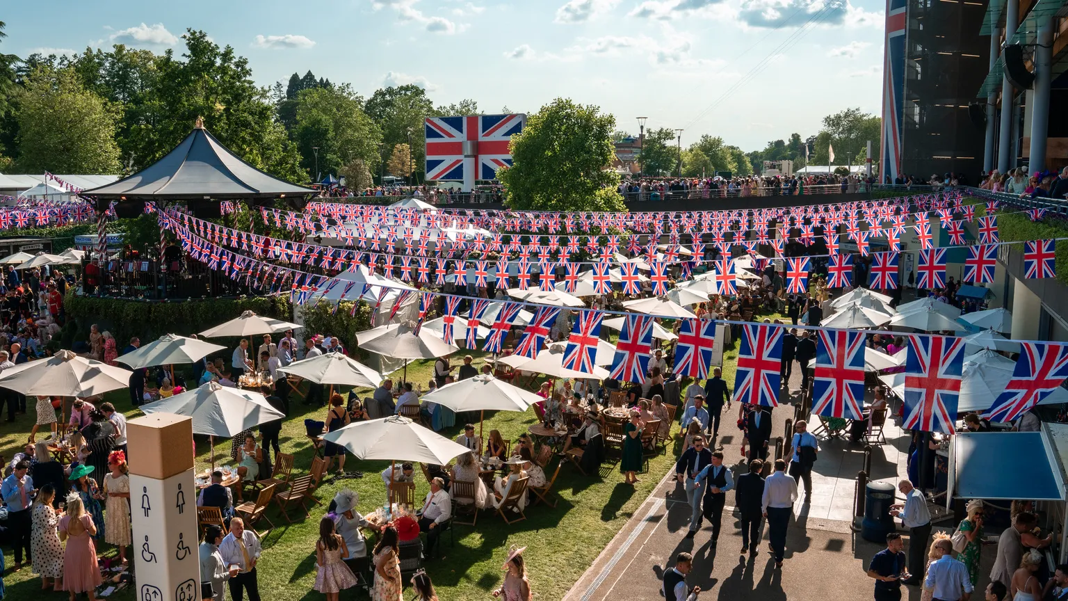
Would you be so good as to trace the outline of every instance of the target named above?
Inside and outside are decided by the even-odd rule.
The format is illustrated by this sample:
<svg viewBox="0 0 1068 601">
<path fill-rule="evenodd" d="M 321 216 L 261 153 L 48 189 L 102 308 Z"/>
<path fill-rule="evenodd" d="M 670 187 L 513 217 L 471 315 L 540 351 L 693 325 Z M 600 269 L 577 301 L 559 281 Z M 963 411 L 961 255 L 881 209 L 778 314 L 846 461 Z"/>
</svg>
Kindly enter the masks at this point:
<svg viewBox="0 0 1068 601">
<path fill-rule="evenodd" d="M 987 410 L 985 417 L 1012 421 L 1042 402 L 1068 377 L 1068 346 L 1045 342 L 1022 342 L 1012 379 Z"/>
</svg>

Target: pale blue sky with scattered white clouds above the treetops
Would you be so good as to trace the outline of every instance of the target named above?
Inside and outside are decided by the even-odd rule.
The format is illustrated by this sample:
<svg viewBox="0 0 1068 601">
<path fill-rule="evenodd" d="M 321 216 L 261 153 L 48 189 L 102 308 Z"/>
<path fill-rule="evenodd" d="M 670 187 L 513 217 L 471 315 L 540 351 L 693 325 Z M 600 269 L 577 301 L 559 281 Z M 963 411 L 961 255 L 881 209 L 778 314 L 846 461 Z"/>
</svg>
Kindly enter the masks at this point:
<svg viewBox="0 0 1068 601">
<path fill-rule="evenodd" d="M 370 95 L 414 82 L 533 112 L 556 96 L 621 128 L 682 127 L 743 150 L 859 106 L 878 114 L 879 0 L 33 0 L 5 6 L 0 49 L 27 56 L 122 42 L 156 51 L 202 29 L 268 86 L 312 70 Z"/>
</svg>

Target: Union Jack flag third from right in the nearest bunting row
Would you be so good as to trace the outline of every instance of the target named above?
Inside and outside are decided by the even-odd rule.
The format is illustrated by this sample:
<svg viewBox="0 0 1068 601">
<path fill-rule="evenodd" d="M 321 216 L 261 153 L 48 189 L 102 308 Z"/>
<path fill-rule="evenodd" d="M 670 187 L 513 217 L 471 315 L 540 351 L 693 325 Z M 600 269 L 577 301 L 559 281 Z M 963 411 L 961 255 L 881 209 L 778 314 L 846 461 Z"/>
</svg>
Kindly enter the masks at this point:
<svg viewBox="0 0 1068 601">
<path fill-rule="evenodd" d="M 819 330 L 812 398 L 812 411 L 816 415 L 861 419 L 864 402 L 863 332 Z"/>
</svg>

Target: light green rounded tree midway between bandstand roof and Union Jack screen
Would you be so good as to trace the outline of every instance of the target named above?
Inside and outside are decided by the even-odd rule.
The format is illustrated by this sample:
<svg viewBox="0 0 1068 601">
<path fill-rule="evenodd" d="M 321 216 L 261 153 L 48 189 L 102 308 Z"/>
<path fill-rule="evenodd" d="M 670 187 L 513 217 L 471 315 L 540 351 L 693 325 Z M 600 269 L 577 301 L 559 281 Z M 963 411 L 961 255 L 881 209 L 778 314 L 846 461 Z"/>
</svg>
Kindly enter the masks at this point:
<svg viewBox="0 0 1068 601">
<path fill-rule="evenodd" d="M 348 84 L 301 90 L 296 101 L 290 135 L 305 171 L 311 173 L 315 168 L 314 148 L 318 148 L 320 172 L 336 173 L 357 158 L 377 166 L 382 133 L 363 112 L 363 99 Z"/>
</svg>

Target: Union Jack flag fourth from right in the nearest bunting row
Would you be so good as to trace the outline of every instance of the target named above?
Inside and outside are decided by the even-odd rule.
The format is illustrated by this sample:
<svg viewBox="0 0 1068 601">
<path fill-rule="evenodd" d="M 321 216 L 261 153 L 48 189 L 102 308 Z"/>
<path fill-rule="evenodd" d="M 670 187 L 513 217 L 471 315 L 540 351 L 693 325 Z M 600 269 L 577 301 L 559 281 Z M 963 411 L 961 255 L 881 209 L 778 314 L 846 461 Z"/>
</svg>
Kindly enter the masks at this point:
<svg viewBox="0 0 1068 601">
<path fill-rule="evenodd" d="M 778 406 L 782 358 L 783 328 L 742 324 L 741 349 L 738 351 L 738 369 L 735 373 L 735 401 L 767 407 Z"/>
</svg>

